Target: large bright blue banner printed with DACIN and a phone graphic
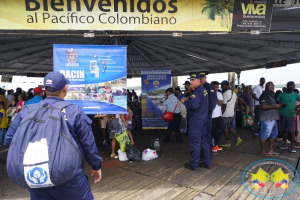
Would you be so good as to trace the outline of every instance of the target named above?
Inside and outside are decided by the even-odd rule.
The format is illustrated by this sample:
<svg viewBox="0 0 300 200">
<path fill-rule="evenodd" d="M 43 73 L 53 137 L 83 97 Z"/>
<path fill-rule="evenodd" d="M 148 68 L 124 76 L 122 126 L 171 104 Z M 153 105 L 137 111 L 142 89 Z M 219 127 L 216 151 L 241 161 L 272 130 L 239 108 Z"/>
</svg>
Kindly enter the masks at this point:
<svg viewBox="0 0 300 200">
<path fill-rule="evenodd" d="M 127 46 L 54 44 L 53 64 L 70 81 L 65 100 L 86 114 L 127 113 Z"/>
</svg>

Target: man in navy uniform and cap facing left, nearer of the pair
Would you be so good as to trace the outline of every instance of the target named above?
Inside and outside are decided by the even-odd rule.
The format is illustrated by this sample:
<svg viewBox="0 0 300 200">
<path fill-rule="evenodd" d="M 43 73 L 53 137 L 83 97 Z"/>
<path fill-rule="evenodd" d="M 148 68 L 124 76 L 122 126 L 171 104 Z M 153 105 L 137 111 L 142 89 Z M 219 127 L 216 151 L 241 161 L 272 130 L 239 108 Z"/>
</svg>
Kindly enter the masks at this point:
<svg viewBox="0 0 300 200">
<path fill-rule="evenodd" d="M 203 159 L 206 166 L 211 163 L 211 140 L 209 141 L 206 131 L 208 113 L 208 94 L 201 86 L 201 76 L 199 73 L 191 74 L 191 85 L 194 88 L 193 94 L 189 99 L 183 97 L 181 102 L 188 110 L 189 119 L 189 143 L 191 152 L 190 163 L 185 164 L 185 168 L 199 170 L 200 151 L 203 149 Z M 211 137 L 210 137 L 211 138 Z"/>
</svg>

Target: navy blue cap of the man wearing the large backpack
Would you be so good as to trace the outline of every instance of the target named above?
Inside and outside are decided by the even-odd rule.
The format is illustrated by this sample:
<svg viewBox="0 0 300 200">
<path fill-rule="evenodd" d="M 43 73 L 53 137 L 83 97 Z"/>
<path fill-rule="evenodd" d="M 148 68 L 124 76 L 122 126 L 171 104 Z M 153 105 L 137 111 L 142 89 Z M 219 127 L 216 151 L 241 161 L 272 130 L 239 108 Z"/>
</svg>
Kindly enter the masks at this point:
<svg viewBox="0 0 300 200">
<path fill-rule="evenodd" d="M 50 72 L 44 78 L 45 90 L 50 92 L 61 90 L 69 83 L 70 81 L 59 72 Z"/>
</svg>

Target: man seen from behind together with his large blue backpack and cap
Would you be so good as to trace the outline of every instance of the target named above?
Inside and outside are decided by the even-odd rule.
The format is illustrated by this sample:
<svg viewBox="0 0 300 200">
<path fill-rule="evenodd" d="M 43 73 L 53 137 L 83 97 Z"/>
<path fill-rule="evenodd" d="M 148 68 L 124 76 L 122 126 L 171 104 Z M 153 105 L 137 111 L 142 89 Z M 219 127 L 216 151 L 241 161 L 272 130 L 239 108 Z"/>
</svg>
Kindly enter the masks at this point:
<svg viewBox="0 0 300 200">
<path fill-rule="evenodd" d="M 84 158 L 92 167 L 94 183 L 101 179 L 92 121 L 77 105 L 64 101 L 69 80 L 59 72 L 44 79 L 47 98 L 25 106 L 6 137 L 7 172 L 31 199 L 94 199 Z"/>
</svg>

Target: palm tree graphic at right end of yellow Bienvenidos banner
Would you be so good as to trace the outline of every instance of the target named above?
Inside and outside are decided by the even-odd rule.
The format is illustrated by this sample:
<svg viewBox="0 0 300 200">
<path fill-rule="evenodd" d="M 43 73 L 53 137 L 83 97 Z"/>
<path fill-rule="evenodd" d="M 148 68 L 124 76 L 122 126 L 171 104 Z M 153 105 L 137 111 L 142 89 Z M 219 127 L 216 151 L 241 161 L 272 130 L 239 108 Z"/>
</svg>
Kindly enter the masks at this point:
<svg viewBox="0 0 300 200">
<path fill-rule="evenodd" d="M 231 14 L 233 13 L 234 0 L 205 0 L 202 4 L 202 14 L 206 14 L 208 19 L 215 21 L 217 16 L 221 17 L 221 25 L 231 26 Z M 228 19 L 227 23 L 222 22 Z"/>
</svg>

